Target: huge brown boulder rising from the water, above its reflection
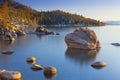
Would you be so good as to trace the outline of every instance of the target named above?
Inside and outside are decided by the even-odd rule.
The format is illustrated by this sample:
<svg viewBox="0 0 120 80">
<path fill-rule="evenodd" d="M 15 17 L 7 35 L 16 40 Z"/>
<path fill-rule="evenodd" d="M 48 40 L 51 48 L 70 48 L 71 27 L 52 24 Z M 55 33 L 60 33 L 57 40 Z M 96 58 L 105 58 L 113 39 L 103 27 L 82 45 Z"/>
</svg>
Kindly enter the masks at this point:
<svg viewBox="0 0 120 80">
<path fill-rule="evenodd" d="M 99 40 L 93 30 L 79 29 L 65 36 L 68 48 L 96 49 L 101 48 Z"/>
</svg>

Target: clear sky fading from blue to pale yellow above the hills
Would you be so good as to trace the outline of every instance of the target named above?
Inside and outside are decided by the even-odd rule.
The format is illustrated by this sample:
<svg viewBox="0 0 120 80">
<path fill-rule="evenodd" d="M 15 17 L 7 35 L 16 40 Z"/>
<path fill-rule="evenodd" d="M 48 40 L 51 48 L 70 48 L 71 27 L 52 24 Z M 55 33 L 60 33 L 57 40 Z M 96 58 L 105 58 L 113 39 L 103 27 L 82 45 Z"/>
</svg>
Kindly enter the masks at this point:
<svg viewBox="0 0 120 80">
<path fill-rule="evenodd" d="M 38 11 L 63 10 L 101 21 L 120 20 L 120 0 L 16 0 Z"/>
</svg>

